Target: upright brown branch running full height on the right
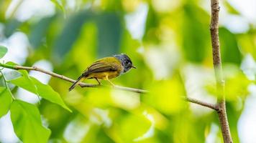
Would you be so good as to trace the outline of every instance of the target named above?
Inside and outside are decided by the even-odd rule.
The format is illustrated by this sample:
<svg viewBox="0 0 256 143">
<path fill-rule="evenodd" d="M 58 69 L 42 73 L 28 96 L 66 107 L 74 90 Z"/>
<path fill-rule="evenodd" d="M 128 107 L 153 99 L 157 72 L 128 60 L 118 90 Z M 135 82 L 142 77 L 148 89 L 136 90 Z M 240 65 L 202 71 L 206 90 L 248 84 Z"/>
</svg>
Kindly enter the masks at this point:
<svg viewBox="0 0 256 143">
<path fill-rule="evenodd" d="M 216 86 L 218 90 L 217 112 L 221 125 L 221 132 L 225 143 L 232 143 L 232 137 L 229 131 L 229 122 L 227 119 L 225 104 L 225 82 L 222 75 L 221 54 L 219 46 L 219 0 L 211 0 L 211 46 L 214 62 L 214 71 L 216 77 Z"/>
</svg>

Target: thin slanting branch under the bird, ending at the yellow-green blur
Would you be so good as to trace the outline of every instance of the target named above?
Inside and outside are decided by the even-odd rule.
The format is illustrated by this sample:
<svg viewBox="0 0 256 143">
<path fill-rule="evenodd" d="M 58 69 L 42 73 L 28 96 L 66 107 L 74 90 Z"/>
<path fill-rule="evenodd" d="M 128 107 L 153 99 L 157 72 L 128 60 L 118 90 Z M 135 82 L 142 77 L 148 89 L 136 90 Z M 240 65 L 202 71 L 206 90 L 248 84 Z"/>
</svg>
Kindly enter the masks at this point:
<svg viewBox="0 0 256 143">
<path fill-rule="evenodd" d="M 0 66 L 4 67 L 4 68 L 7 68 L 7 69 L 15 69 L 15 70 L 19 70 L 19 69 L 24 69 L 24 70 L 30 70 L 30 71 L 39 71 L 39 72 L 42 72 L 44 74 L 48 74 L 52 77 L 57 77 L 59 79 L 63 79 L 67 82 L 76 82 L 76 80 L 74 79 L 70 79 L 68 77 L 65 77 L 63 75 L 60 75 L 60 74 L 56 74 L 52 71 L 46 71 L 45 69 L 41 69 L 37 66 L 12 66 L 12 65 L 8 65 L 8 64 L 2 64 L 0 63 Z M 99 85 L 99 84 L 85 84 L 83 82 L 81 82 L 80 84 L 80 87 L 103 87 L 103 85 Z M 134 89 L 134 88 L 130 88 L 130 87 L 120 87 L 120 86 L 114 86 L 113 87 L 114 89 L 120 89 L 120 90 L 124 90 L 124 91 L 128 91 L 128 92 L 136 92 L 136 93 L 139 93 L 139 94 L 145 94 L 147 93 L 148 91 L 147 90 L 142 90 L 142 89 Z"/>
</svg>

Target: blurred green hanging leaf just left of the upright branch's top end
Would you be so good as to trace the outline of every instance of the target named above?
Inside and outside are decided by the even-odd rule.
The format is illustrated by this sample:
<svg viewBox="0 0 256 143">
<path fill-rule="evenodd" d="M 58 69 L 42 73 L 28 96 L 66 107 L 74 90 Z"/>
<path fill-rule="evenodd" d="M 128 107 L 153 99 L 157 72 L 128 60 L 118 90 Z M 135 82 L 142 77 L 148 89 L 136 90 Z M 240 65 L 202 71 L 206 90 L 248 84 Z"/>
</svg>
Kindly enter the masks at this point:
<svg viewBox="0 0 256 143">
<path fill-rule="evenodd" d="M 203 61 L 210 47 L 209 15 L 206 11 L 198 8 L 194 4 L 184 6 L 183 26 L 181 27 L 183 36 L 183 50 L 186 59 L 190 61 Z"/>
</svg>

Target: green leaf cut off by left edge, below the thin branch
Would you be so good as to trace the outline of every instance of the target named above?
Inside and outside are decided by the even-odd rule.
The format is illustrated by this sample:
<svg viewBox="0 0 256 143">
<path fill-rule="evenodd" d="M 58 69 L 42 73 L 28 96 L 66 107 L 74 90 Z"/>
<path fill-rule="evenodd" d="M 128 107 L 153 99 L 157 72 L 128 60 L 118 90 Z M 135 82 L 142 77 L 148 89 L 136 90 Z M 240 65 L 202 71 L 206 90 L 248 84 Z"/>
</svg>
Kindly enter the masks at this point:
<svg viewBox="0 0 256 143">
<path fill-rule="evenodd" d="M 12 93 L 5 87 L 0 87 L 0 117 L 4 116 L 12 104 Z"/>
</svg>

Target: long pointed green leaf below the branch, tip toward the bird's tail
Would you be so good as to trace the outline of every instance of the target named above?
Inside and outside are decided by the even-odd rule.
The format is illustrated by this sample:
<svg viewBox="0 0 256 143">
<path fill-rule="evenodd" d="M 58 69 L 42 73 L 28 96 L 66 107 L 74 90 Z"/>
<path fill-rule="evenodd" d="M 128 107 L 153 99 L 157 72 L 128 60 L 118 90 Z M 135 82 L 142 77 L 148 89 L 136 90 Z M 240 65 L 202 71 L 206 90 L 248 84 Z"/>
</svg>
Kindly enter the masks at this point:
<svg viewBox="0 0 256 143">
<path fill-rule="evenodd" d="M 37 87 L 37 92 L 31 87 L 32 85 L 29 85 L 27 82 L 27 79 L 25 77 L 19 77 L 17 79 L 12 79 L 10 82 L 12 84 L 17 85 L 18 87 L 22 87 L 23 89 L 26 89 L 29 92 L 32 92 L 34 94 L 39 94 L 40 97 L 47 99 L 48 101 L 59 104 L 64 109 L 67 109 L 71 112 L 71 110 L 65 105 L 63 102 L 63 99 L 60 98 L 60 94 L 58 92 L 55 92 L 52 87 L 49 85 L 42 84 L 34 77 L 29 77 L 32 79 L 33 84 L 35 84 L 35 87 Z"/>
</svg>

